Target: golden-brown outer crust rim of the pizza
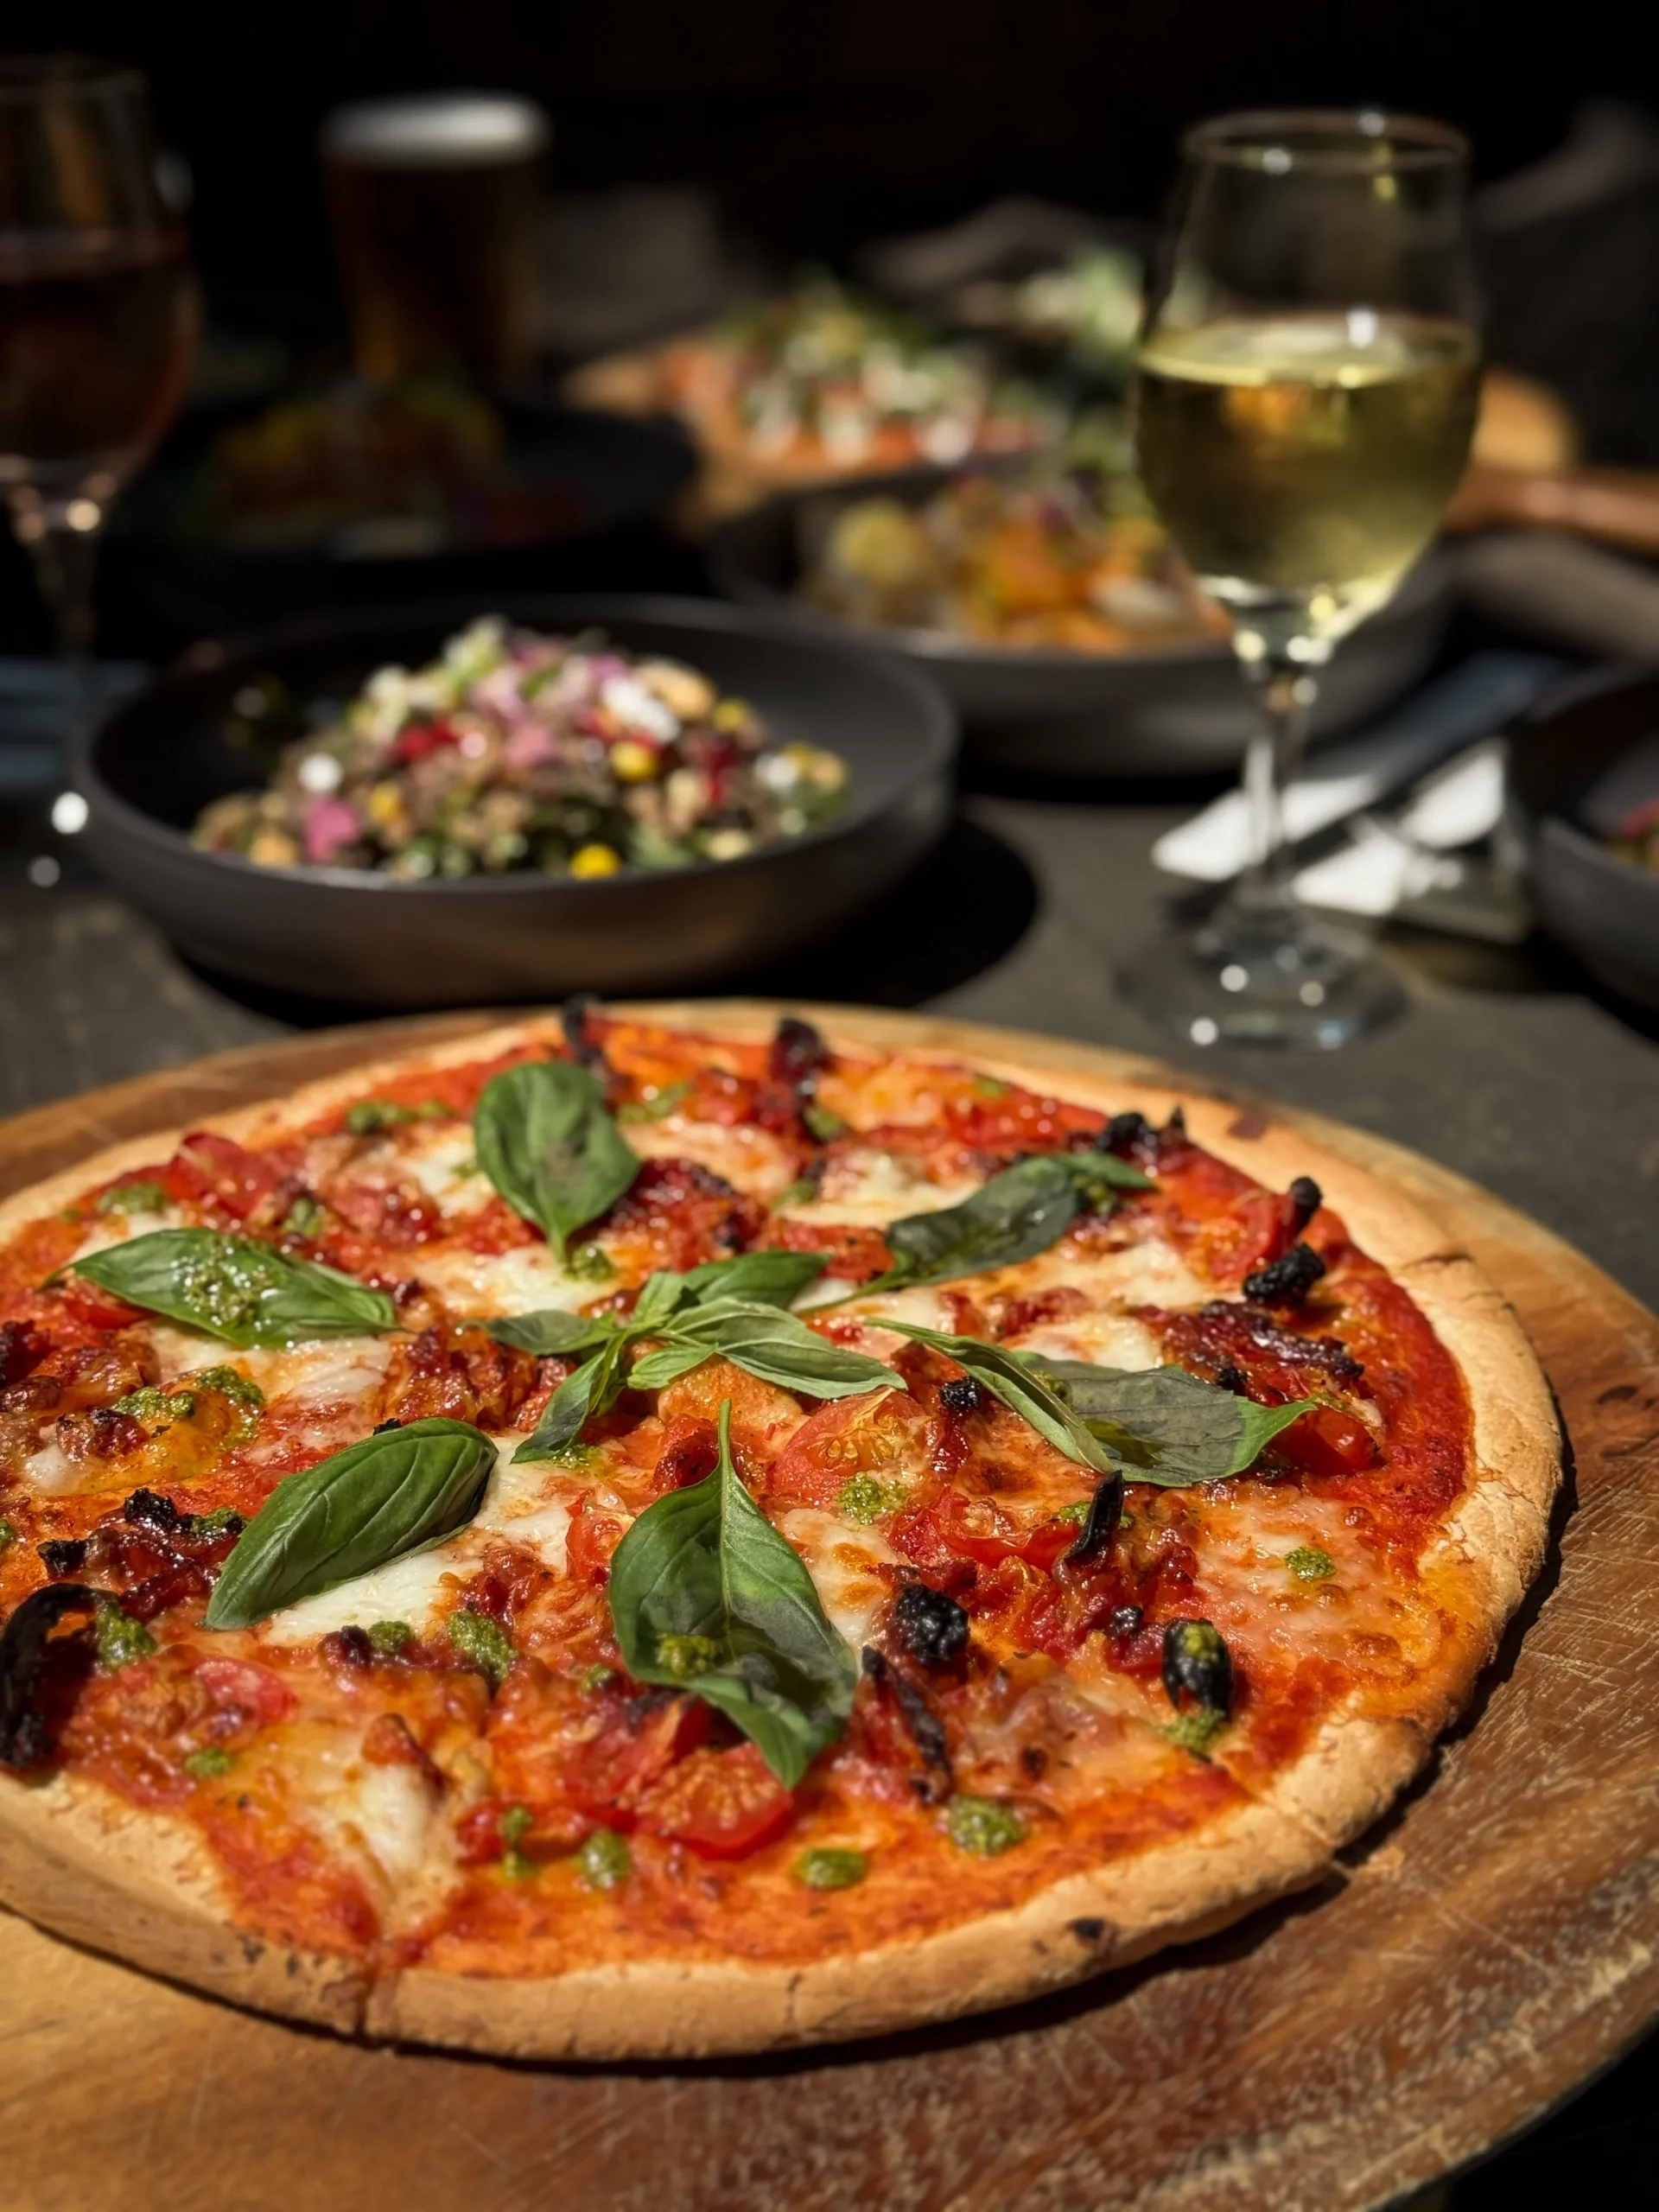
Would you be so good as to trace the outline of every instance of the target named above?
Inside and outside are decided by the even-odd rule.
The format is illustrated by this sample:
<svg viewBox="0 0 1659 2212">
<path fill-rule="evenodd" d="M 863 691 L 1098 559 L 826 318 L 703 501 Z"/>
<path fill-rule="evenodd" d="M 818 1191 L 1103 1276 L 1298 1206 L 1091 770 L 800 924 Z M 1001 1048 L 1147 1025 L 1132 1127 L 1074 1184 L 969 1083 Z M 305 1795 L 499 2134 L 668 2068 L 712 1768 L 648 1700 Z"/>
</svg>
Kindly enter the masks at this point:
<svg viewBox="0 0 1659 2212">
<path fill-rule="evenodd" d="M 1276 1896 L 1340 1874 L 1334 1854 L 1369 1827 L 1425 1765 L 1462 1710 L 1504 1621 L 1535 1577 L 1559 1482 L 1548 1385 L 1509 1305 L 1409 1197 L 1292 1117 L 1241 1108 L 1152 1064 L 1124 1075 L 1119 1055 L 916 1015 L 841 1006 L 668 1002 L 608 1009 L 732 1042 L 770 1037 L 801 1013 L 843 1046 L 971 1062 L 987 1075 L 1053 1088 L 1110 1113 L 1164 1121 L 1179 1106 L 1197 1144 L 1283 1188 L 1314 1175 L 1354 1241 L 1398 1276 L 1462 1369 L 1478 1480 L 1425 1553 L 1425 1571 L 1475 1575 L 1475 1632 L 1409 1710 L 1340 1712 L 1254 1801 L 1201 1836 L 1068 1876 L 1013 1911 L 914 1944 L 825 1958 L 799 1969 L 675 1964 L 584 1969 L 555 1980 L 411 1969 L 369 1984 L 352 1962 L 241 1936 L 212 1867 L 166 1818 L 146 1818 L 88 1785 L 0 1790 L 0 1896 L 77 1942 L 232 2002 L 338 2031 L 451 2044 L 509 2057 L 695 2057 L 872 2035 L 1011 2004 L 1170 1942 L 1190 1942 Z M 482 1029 L 438 1048 L 378 1060 L 259 1106 L 212 1115 L 241 1141 L 307 1124 L 411 1068 L 460 1066 L 529 1042 L 555 1042 L 553 1015 Z M 128 1139 L 0 1206 L 0 1239 L 108 1181 L 166 1157 L 181 1130 Z"/>
</svg>

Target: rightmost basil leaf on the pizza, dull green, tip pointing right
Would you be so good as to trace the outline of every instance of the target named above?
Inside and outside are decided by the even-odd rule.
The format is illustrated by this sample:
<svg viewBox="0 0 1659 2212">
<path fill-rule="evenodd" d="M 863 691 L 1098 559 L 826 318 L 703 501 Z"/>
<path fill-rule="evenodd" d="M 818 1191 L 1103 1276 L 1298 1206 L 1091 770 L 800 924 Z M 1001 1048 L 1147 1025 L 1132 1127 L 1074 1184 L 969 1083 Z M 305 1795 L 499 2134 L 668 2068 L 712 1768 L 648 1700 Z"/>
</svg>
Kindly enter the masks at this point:
<svg viewBox="0 0 1659 2212">
<path fill-rule="evenodd" d="M 1113 1431 L 1137 1447 L 1124 1453 L 1130 1482 L 1186 1489 L 1192 1482 L 1225 1482 L 1256 1464 L 1263 1449 L 1318 1398 L 1290 1405 L 1254 1405 L 1230 1389 L 1201 1383 L 1186 1367 L 1093 1367 L 1088 1360 L 1048 1360 L 1024 1352 L 1024 1363 L 1057 1389 L 1095 1436 Z M 1113 1449 L 1113 1436 L 1106 1433 Z"/>
</svg>

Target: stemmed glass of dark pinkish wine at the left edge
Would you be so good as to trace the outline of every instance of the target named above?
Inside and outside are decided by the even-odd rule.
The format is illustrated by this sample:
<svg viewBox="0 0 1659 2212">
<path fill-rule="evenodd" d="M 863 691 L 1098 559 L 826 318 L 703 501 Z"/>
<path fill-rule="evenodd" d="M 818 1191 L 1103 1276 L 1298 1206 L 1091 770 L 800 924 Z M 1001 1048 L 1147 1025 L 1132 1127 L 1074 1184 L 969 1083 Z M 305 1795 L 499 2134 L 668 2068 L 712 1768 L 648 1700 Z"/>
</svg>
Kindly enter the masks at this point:
<svg viewBox="0 0 1659 2212">
<path fill-rule="evenodd" d="M 0 498 L 84 706 L 108 504 L 184 398 L 197 290 L 144 80 L 0 60 Z"/>
</svg>

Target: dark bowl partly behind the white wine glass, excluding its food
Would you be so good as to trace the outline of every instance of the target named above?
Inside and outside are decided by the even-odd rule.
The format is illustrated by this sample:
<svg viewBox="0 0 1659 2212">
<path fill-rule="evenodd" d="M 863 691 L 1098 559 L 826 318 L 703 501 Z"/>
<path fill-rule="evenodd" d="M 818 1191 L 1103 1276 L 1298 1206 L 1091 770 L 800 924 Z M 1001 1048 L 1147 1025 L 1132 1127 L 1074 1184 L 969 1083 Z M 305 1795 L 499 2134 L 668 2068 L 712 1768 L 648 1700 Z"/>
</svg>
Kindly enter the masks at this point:
<svg viewBox="0 0 1659 2212">
<path fill-rule="evenodd" d="M 783 491 L 710 533 L 708 573 L 728 599 L 779 615 L 803 637 L 876 646 L 925 668 L 962 717 L 969 750 L 998 765 L 1062 776 L 1234 768 L 1256 721 L 1232 648 L 1221 639 L 1146 653 L 980 646 L 938 630 L 836 622 L 796 597 L 807 502 L 872 493 L 920 502 L 951 473 L 905 469 L 836 493 L 823 487 Z M 1400 595 L 1338 648 L 1321 686 L 1314 737 L 1363 721 L 1409 690 L 1433 661 L 1449 615 L 1447 575 L 1431 555 Z"/>
</svg>

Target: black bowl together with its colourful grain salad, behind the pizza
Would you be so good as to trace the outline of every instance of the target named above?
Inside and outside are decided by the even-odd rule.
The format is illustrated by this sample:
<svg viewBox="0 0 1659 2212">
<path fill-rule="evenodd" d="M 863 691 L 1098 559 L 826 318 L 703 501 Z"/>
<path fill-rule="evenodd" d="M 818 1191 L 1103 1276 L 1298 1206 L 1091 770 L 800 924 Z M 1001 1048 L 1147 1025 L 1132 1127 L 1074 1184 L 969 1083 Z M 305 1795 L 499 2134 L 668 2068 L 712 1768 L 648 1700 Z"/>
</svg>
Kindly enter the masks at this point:
<svg viewBox="0 0 1659 2212">
<path fill-rule="evenodd" d="M 354 1004 L 701 980 L 940 834 L 911 670 L 679 599 L 409 608 L 197 648 L 77 741 L 100 865 L 201 964 Z"/>
</svg>

